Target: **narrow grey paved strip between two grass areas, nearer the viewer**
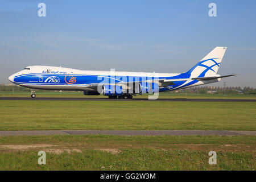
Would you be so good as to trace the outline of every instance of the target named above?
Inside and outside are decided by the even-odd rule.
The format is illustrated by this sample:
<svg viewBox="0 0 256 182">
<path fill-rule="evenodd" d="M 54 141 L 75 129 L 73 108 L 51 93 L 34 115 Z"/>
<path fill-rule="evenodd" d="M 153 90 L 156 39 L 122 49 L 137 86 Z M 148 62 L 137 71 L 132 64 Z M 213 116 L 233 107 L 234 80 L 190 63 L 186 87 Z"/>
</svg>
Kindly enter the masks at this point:
<svg viewBox="0 0 256 182">
<path fill-rule="evenodd" d="M 256 135 L 256 131 L 220 131 L 220 130 L 34 130 L 34 131 L 0 131 L 0 136 L 34 136 L 34 135 L 120 135 L 120 136 L 185 136 L 185 135 Z"/>
</svg>

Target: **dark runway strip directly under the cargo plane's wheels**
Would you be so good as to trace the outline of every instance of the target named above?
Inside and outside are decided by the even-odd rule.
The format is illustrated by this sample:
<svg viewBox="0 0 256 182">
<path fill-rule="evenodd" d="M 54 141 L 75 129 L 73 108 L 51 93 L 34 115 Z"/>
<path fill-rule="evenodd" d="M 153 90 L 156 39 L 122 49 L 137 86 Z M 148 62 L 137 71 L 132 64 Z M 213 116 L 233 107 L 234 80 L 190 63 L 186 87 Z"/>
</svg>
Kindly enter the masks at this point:
<svg viewBox="0 0 256 182">
<path fill-rule="evenodd" d="M 9 101 L 196 101 L 196 102 L 256 102 L 247 99 L 208 99 L 208 98 L 159 98 L 158 100 L 148 100 L 147 98 L 133 99 L 109 99 L 109 98 L 68 98 L 68 97 L 0 97 L 0 100 Z"/>
</svg>

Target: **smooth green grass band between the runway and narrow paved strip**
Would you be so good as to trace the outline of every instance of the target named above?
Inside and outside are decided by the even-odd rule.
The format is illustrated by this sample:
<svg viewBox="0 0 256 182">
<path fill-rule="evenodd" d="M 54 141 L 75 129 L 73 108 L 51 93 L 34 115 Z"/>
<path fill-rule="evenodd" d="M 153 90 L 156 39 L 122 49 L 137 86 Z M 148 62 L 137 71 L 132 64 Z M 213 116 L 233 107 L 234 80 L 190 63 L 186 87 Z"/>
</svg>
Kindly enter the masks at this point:
<svg viewBox="0 0 256 182">
<path fill-rule="evenodd" d="M 0 130 L 256 130 L 256 102 L 0 101 Z"/>
</svg>

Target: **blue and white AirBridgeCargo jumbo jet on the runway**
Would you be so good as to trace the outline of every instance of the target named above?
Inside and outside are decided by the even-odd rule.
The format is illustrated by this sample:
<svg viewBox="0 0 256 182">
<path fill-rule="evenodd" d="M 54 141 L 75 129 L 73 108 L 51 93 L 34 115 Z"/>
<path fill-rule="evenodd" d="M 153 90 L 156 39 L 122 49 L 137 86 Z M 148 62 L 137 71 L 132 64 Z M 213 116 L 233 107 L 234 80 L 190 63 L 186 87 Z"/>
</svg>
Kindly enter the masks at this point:
<svg viewBox="0 0 256 182">
<path fill-rule="evenodd" d="M 28 66 L 14 73 L 9 80 L 31 89 L 76 90 L 85 95 L 104 94 L 109 98 L 133 98 L 136 94 L 158 93 L 218 82 L 217 75 L 226 47 L 216 47 L 199 63 L 184 73 L 143 73 L 113 71 L 82 71 L 79 69 Z"/>
</svg>

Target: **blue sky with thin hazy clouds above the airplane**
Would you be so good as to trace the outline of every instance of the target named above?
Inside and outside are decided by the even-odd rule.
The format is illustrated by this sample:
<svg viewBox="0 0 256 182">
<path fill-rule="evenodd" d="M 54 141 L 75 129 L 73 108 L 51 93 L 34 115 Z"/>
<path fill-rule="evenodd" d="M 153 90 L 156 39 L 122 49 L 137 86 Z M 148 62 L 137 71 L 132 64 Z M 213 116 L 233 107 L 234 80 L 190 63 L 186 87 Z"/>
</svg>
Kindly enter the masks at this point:
<svg viewBox="0 0 256 182">
<path fill-rule="evenodd" d="M 38 4 L 46 4 L 46 17 Z M 210 17 L 209 3 L 217 16 Z M 209 86 L 256 88 L 256 1 L 0 3 L 0 83 L 28 65 L 182 73 L 214 47 L 227 51 Z"/>
</svg>

